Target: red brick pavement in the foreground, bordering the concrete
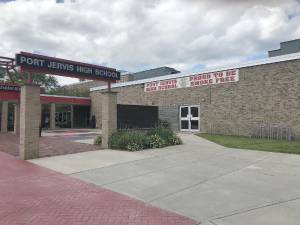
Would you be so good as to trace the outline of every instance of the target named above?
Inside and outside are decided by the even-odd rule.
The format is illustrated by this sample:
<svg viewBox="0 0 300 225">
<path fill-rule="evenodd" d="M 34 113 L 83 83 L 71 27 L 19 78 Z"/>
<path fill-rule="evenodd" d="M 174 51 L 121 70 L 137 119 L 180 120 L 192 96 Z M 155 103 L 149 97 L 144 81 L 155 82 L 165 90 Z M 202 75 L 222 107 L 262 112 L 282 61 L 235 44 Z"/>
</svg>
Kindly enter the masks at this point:
<svg viewBox="0 0 300 225">
<path fill-rule="evenodd" d="M 195 225 L 93 184 L 0 152 L 1 225 Z"/>
</svg>

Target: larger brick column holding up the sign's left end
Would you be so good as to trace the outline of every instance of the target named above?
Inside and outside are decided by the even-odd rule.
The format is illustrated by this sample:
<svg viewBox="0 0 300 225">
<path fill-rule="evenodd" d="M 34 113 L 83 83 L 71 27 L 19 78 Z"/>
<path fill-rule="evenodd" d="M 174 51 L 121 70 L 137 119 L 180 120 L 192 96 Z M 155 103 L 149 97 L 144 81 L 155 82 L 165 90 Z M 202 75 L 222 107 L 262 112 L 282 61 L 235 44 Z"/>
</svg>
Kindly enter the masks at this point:
<svg viewBox="0 0 300 225">
<path fill-rule="evenodd" d="M 39 157 L 40 87 L 22 86 L 20 100 L 20 158 L 35 159 Z"/>
</svg>

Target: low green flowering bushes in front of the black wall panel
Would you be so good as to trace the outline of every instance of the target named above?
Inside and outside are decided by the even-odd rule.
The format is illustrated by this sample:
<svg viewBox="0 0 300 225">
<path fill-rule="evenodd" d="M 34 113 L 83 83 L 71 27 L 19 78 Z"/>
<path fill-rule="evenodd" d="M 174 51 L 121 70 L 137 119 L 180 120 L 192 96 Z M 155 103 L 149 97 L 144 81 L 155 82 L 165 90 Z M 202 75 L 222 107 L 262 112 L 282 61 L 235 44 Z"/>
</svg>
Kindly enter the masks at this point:
<svg viewBox="0 0 300 225">
<path fill-rule="evenodd" d="M 111 149 L 128 151 L 162 148 L 179 144 L 182 144 L 180 138 L 173 131 L 165 128 L 156 128 L 149 131 L 118 131 L 110 137 L 108 143 Z"/>
</svg>

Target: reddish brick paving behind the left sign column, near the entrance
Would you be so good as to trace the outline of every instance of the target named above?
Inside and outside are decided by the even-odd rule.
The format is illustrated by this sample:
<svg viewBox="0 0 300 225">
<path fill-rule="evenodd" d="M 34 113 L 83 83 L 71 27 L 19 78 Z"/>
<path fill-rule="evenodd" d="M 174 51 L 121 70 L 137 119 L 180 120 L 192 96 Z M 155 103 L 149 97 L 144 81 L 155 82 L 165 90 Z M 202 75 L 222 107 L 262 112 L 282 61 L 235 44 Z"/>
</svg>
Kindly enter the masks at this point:
<svg viewBox="0 0 300 225">
<path fill-rule="evenodd" d="M 99 149 L 99 146 L 73 142 L 71 140 L 67 140 L 63 136 L 40 138 L 40 157 L 64 155 Z M 0 152 L 18 156 L 19 137 L 12 133 L 0 134 Z"/>
</svg>

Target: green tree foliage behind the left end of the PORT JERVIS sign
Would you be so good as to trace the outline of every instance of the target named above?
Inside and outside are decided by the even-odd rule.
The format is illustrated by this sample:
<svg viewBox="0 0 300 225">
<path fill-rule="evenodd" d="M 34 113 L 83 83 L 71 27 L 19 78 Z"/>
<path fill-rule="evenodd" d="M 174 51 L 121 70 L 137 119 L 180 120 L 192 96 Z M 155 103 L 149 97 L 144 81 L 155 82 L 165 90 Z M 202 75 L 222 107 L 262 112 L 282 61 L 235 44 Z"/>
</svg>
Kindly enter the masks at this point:
<svg viewBox="0 0 300 225">
<path fill-rule="evenodd" d="M 25 84 L 28 80 L 29 74 L 26 72 L 9 72 L 8 73 L 9 81 L 17 84 Z M 32 82 L 40 86 L 45 87 L 45 90 L 48 92 L 52 89 L 58 88 L 58 80 L 51 75 L 34 73 L 32 74 Z"/>
</svg>

